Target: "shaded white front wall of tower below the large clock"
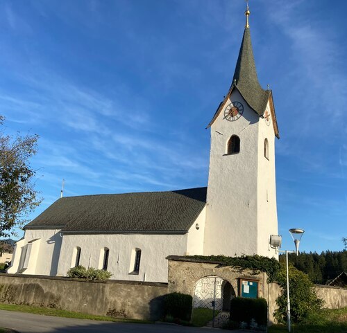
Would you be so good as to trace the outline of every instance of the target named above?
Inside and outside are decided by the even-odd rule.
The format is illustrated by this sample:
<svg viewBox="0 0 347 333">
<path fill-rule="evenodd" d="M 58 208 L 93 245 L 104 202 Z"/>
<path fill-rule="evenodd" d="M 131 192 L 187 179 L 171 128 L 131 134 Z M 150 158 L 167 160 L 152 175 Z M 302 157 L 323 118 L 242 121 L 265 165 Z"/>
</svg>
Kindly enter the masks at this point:
<svg viewBox="0 0 347 333">
<path fill-rule="evenodd" d="M 239 92 L 230 100 L 241 102 L 244 114 L 235 121 L 224 119 L 224 110 L 211 126 L 205 255 L 257 253 L 257 174 L 259 116 Z M 240 138 L 239 154 L 226 154 L 226 143 Z"/>
</svg>

